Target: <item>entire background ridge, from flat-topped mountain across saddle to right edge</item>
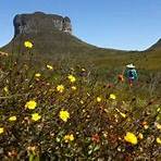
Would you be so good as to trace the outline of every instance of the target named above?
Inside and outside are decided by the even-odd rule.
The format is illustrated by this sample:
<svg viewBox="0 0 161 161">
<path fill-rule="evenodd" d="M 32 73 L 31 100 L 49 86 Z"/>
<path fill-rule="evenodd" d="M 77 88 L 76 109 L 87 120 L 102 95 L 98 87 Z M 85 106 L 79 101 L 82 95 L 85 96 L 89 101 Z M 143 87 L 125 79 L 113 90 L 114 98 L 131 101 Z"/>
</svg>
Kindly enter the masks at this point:
<svg viewBox="0 0 161 161">
<path fill-rule="evenodd" d="M 1 50 L 9 53 L 25 53 L 24 41 L 34 44 L 33 52 L 49 59 L 73 59 L 74 62 L 92 63 L 99 69 L 109 66 L 124 66 L 126 63 L 136 63 L 138 67 L 149 70 L 161 69 L 160 53 L 151 49 L 160 49 L 161 40 L 148 51 L 121 51 L 103 49 L 89 45 L 73 35 L 70 17 L 35 12 L 18 14 L 14 17 L 14 37 Z M 153 55 L 153 58 L 151 58 Z M 157 58 L 157 59 L 156 59 Z M 76 60 L 76 61 L 75 61 Z M 156 64 L 157 63 L 157 64 Z M 153 67 L 154 66 L 154 67 Z"/>
</svg>

